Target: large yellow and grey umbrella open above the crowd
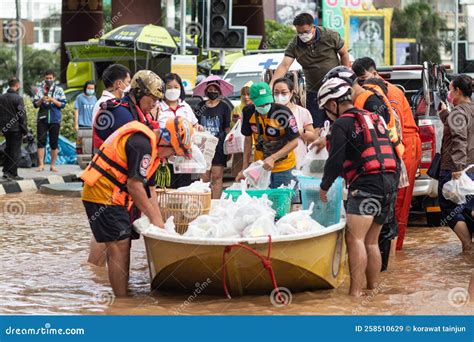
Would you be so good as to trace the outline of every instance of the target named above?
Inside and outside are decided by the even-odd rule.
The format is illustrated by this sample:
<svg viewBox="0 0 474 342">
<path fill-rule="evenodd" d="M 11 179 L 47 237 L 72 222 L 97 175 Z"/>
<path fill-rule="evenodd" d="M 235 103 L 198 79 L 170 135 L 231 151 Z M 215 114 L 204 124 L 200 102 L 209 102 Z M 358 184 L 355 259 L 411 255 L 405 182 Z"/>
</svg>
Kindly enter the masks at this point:
<svg viewBox="0 0 474 342">
<path fill-rule="evenodd" d="M 177 51 L 168 30 L 156 25 L 123 25 L 100 37 L 99 44 L 164 54 Z"/>
</svg>

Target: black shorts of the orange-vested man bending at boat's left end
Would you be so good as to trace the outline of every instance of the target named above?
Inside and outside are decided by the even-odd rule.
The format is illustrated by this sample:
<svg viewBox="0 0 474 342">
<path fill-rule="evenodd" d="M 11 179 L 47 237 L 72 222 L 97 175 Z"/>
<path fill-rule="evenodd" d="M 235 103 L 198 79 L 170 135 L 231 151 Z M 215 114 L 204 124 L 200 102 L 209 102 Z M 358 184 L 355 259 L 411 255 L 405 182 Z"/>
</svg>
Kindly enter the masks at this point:
<svg viewBox="0 0 474 342">
<path fill-rule="evenodd" d="M 97 242 L 114 242 L 140 236 L 133 230 L 130 214 L 122 206 L 82 201 Z"/>
</svg>

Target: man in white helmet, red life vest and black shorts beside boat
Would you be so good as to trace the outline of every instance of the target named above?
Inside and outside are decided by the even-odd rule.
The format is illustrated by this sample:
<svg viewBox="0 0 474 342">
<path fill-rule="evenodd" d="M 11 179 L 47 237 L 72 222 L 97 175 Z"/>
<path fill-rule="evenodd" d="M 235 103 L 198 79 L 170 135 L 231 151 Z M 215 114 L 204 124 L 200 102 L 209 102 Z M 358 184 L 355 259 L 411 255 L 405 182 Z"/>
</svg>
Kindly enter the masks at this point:
<svg viewBox="0 0 474 342">
<path fill-rule="evenodd" d="M 334 123 L 329 136 L 329 157 L 324 167 L 320 197 L 343 175 L 348 185 L 346 242 L 350 290 L 362 296 L 378 286 L 382 260 L 378 238 L 393 204 L 397 157 L 382 116 L 354 107 L 352 87 L 340 78 L 328 79 L 318 102 Z"/>
</svg>

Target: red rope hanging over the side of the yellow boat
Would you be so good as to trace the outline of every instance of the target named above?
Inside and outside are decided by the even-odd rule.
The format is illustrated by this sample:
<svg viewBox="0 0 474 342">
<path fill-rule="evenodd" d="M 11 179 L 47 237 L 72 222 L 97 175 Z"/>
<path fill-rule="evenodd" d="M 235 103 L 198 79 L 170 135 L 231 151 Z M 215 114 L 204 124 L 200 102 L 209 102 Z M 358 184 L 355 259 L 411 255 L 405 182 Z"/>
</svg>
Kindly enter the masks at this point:
<svg viewBox="0 0 474 342">
<path fill-rule="evenodd" d="M 240 247 L 240 248 L 243 248 L 244 250 L 252 253 L 253 255 L 255 255 L 257 258 L 260 259 L 260 261 L 262 262 L 262 265 L 263 265 L 263 268 L 265 268 L 266 270 L 268 270 L 268 274 L 270 275 L 270 279 L 272 281 L 272 285 L 273 285 L 273 288 L 275 289 L 275 293 L 276 293 L 276 298 L 278 299 L 278 301 L 280 301 L 280 303 L 282 304 L 285 304 L 285 299 L 283 298 L 283 296 L 281 295 L 280 293 L 280 289 L 278 288 L 278 285 L 277 285 L 277 282 L 276 282 L 276 277 L 275 277 L 275 273 L 273 272 L 273 267 L 272 267 L 272 263 L 271 263 L 271 260 L 270 260 L 270 256 L 272 254 L 272 236 L 271 235 L 268 235 L 268 254 L 267 256 L 263 256 L 261 255 L 260 253 L 258 253 L 255 249 L 253 249 L 252 247 L 250 246 L 247 246 L 247 245 L 244 245 L 242 243 L 235 243 L 235 244 L 232 244 L 232 245 L 228 245 L 224 248 L 224 253 L 222 254 L 222 286 L 224 288 L 224 292 L 225 292 L 225 295 L 227 296 L 227 298 L 231 299 L 232 297 L 230 296 L 230 292 L 229 292 L 229 289 L 227 288 L 227 281 L 226 281 L 226 276 L 227 276 L 227 263 L 226 263 L 226 256 L 227 254 L 229 254 L 232 249 L 234 248 L 237 248 L 237 247 Z"/>
</svg>

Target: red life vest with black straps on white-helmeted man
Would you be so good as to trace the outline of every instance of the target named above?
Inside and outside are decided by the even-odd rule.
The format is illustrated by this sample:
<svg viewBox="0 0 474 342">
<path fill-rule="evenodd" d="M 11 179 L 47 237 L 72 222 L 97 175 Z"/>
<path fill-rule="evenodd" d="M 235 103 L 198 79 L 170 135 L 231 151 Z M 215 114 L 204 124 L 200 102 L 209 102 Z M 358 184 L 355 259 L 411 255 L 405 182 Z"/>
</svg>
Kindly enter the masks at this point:
<svg viewBox="0 0 474 342">
<path fill-rule="evenodd" d="M 354 118 L 356 134 L 364 134 L 364 145 L 354 160 L 344 161 L 344 177 L 351 184 L 361 175 L 395 173 L 397 159 L 385 120 L 366 110 L 351 109 L 341 117 Z"/>
</svg>

